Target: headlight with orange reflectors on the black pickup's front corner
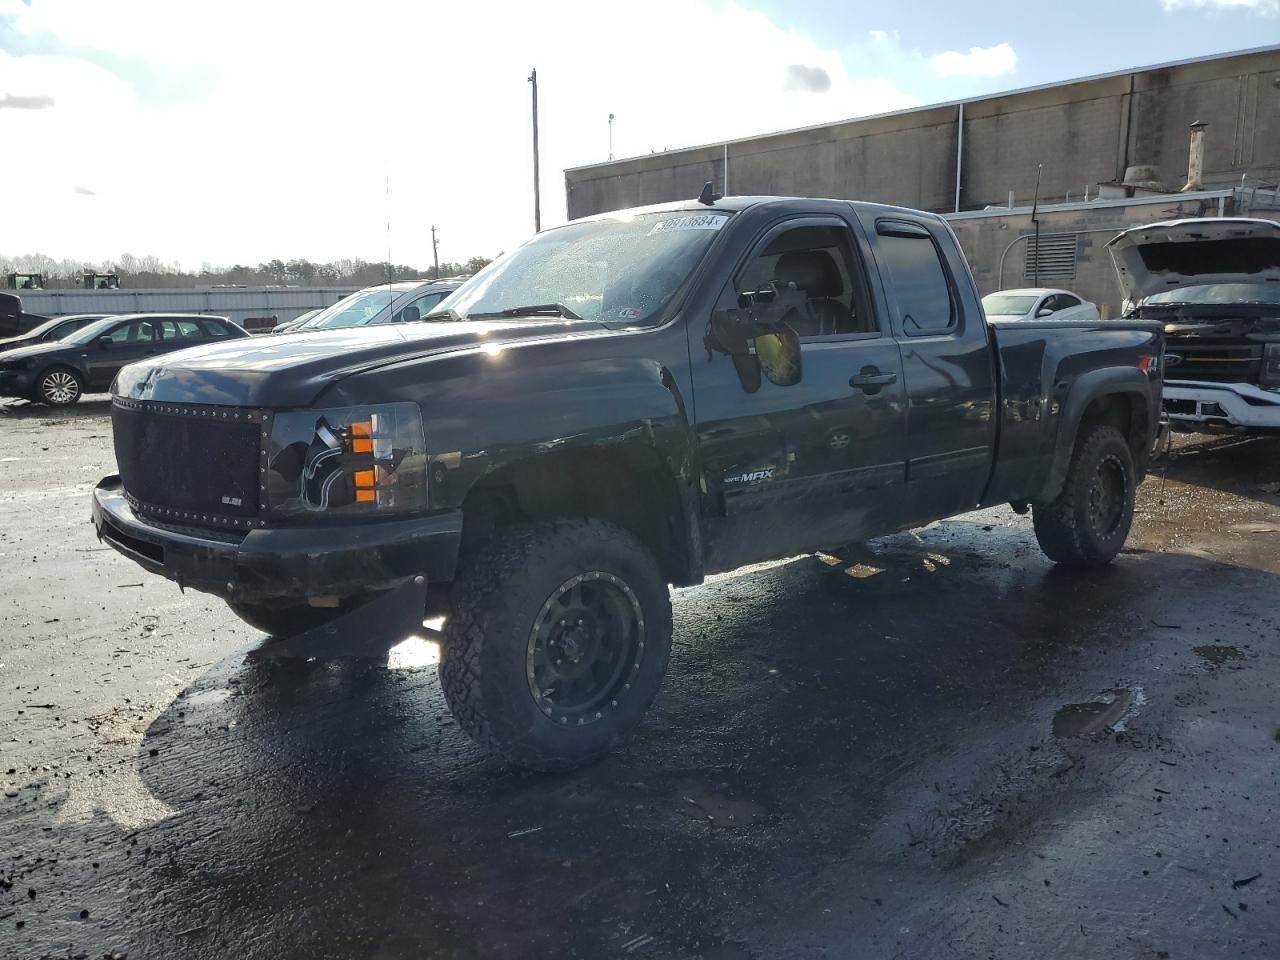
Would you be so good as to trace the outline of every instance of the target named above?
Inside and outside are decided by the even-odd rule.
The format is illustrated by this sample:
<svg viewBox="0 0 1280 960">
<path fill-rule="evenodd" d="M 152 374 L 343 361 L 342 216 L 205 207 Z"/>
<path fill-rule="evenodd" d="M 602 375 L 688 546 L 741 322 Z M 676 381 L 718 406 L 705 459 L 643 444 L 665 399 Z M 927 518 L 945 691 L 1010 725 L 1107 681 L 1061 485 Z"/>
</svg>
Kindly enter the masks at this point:
<svg viewBox="0 0 1280 960">
<path fill-rule="evenodd" d="M 276 413 L 268 452 L 271 515 L 406 513 L 426 506 L 426 440 L 416 403 Z"/>
</svg>

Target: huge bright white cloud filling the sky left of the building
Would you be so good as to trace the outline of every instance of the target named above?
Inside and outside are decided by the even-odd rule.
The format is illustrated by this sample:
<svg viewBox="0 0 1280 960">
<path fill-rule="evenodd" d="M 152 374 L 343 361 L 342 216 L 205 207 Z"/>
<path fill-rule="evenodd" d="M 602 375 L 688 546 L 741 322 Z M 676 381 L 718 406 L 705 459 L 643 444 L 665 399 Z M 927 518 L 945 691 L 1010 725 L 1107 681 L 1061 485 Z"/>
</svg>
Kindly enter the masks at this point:
<svg viewBox="0 0 1280 960">
<path fill-rule="evenodd" d="M 394 260 L 430 262 L 433 224 L 442 259 L 511 250 L 532 228 L 530 67 L 544 225 L 564 218 L 561 170 L 607 157 L 609 113 L 621 157 L 918 102 L 886 76 L 851 74 L 835 49 L 718 0 L 607 14 L 589 0 L 352 9 L 0 0 L 23 49 L 50 50 L 0 51 L 0 93 L 55 101 L 5 111 L 5 138 L 27 148 L 6 157 L 24 189 L 6 198 L 0 252 L 380 260 L 388 177 Z M 829 87 L 788 91 L 796 64 Z M 202 78 L 197 92 L 163 96 L 191 77 Z"/>
</svg>

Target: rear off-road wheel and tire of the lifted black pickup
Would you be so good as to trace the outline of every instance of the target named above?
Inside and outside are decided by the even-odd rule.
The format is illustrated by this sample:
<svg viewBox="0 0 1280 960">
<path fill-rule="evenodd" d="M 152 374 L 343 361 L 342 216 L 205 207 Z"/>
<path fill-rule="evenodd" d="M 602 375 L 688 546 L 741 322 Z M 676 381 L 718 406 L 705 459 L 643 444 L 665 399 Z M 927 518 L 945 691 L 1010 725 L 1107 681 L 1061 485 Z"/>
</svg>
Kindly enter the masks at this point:
<svg viewBox="0 0 1280 960">
<path fill-rule="evenodd" d="M 1051 503 L 1032 504 L 1044 556 L 1070 567 L 1115 559 L 1133 525 L 1137 476 L 1124 434 L 1105 424 L 1082 426 L 1062 492 Z"/>
</svg>

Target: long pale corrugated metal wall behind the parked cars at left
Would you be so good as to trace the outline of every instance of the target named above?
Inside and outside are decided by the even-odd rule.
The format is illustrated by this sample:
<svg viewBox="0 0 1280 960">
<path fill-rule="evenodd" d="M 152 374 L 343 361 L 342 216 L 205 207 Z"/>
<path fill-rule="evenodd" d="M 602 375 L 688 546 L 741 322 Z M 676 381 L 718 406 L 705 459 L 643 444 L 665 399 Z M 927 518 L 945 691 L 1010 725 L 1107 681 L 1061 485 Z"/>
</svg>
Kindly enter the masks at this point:
<svg viewBox="0 0 1280 960">
<path fill-rule="evenodd" d="M 337 303 L 357 287 L 186 287 L 147 291 L 14 291 L 22 308 L 40 316 L 64 314 L 216 314 L 244 324 L 292 320 Z"/>
</svg>

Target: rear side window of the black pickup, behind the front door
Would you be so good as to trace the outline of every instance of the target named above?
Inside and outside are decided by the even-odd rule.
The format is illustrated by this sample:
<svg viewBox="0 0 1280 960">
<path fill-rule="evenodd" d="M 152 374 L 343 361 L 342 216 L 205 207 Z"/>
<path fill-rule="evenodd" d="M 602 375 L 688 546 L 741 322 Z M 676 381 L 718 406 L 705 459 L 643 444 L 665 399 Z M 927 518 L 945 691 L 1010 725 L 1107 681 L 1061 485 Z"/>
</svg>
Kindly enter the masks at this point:
<svg viewBox="0 0 1280 960">
<path fill-rule="evenodd" d="M 955 302 L 942 253 L 924 228 L 902 224 L 899 229 L 897 224 L 877 224 L 876 259 L 893 287 L 902 332 L 932 337 L 955 330 Z"/>
</svg>

